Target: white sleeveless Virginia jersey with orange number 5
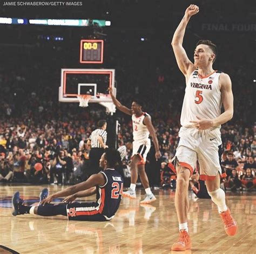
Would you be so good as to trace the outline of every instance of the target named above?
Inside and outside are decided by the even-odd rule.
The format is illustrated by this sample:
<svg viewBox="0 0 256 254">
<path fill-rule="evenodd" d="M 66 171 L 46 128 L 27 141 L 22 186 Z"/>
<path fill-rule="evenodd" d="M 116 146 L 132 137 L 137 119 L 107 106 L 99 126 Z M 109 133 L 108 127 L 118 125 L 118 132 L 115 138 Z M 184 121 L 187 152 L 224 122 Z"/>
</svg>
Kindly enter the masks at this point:
<svg viewBox="0 0 256 254">
<path fill-rule="evenodd" d="M 214 119 L 221 114 L 221 92 L 219 88 L 220 71 L 214 71 L 207 77 L 198 76 L 198 71 L 188 78 L 180 123 L 184 127 L 193 127 L 190 121 L 197 121 L 197 117 Z M 214 126 L 220 128 L 220 126 Z"/>
</svg>

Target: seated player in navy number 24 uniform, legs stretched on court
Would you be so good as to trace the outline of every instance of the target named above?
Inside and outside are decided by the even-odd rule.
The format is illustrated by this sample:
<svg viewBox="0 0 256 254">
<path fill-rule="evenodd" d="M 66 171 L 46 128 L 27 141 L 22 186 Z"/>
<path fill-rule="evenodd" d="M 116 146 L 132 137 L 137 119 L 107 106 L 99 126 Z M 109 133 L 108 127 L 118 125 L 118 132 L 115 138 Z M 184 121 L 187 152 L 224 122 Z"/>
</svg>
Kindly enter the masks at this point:
<svg viewBox="0 0 256 254">
<path fill-rule="evenodd" d="M 40 195 L 38 206 L 23 205 L 17 191 L 12 197 L 12 215 L 32 214 L 41 216 L 64 215 L 75 221 L 109 221 L 119 208 L 123 193 L 122 176 L 114 170 L 120 162 L 117 150 L 107 149 L 99 160 L 103 171 L 89 177 L 85 182 L 70 186 L 48 196 L 44 189 Z M 73 202 L 77 197 L 97 194 L 96 202 Z M 67 197 L 68 196 L 68 197 Z M 54 198 L 66 197 L 60 204 L 50 204 Z"/>
</svg>

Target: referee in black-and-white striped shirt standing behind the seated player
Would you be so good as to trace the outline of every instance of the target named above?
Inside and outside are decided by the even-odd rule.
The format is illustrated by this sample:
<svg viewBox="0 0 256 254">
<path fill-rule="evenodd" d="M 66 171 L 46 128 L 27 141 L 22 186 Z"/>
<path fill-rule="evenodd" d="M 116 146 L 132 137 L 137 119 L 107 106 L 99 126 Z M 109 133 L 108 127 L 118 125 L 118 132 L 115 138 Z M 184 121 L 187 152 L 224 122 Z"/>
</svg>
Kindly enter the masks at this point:
<svg viewBox="0 0 256 254">
<path fill-rule="evenodd" d="M 97 123 L 97 129 L 91 133 L 87 145 L 91 145 L 89 154 L 89 169 L 92 174 L 99 173 L 99 159 L 104 153 L 106 146 L 107 132 L 106 132 L 106 120 L 99 120 Z"/>
</svg>

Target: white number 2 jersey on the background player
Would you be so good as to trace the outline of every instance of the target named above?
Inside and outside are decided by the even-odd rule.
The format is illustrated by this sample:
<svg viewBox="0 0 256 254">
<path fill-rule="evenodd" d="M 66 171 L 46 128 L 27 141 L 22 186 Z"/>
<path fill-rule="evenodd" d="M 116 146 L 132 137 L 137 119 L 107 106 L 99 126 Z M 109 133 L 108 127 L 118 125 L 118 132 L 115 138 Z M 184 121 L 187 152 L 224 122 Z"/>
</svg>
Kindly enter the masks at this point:
<svg viewBox="0 0 256 254">
<path fill-rule="evenodd" d="M 145 116 L 149 116 L 147 113 L 143 113 L 138 118 L 136 115 L 132 115 L 132 128 L 133 128 L 133 140 L 137 142 L 144 142 L 149 139 L 149 130 L 144 125 L 143 120 Z"/>
</svg>

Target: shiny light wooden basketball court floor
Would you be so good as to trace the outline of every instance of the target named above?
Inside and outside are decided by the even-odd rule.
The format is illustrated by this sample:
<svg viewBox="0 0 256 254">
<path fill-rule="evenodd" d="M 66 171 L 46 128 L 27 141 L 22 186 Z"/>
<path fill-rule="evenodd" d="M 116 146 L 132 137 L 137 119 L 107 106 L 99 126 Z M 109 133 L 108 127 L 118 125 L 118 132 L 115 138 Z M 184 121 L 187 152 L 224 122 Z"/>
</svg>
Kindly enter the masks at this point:
<svg viewBox="0 0 256 254">
<path fill-rule="evenodd" d="M 0 186 L 0 245 L 19 253 L 256 253 L 255 193 L 227 194 L 228 207 L 239 227 L 234 237 L 225 234 L 217 208 L 210 200 L 194 200 L 190 194 L 188 224 L 192 251 L 171 252 L 178 236 L 172 191 L 155 191 L 157 201 L 143 207 L 139 201 L 144 190 L 137 190 L 137 200 L 123 198 L 110 222 L 68 222 L 64 216 L 11 215 L 10 200 L 15 191 L 19 190 L 31 204 L 38 201 L 42 188 Z M 62 188 L 49 187 L 50 192 Z"/>
</svg>

